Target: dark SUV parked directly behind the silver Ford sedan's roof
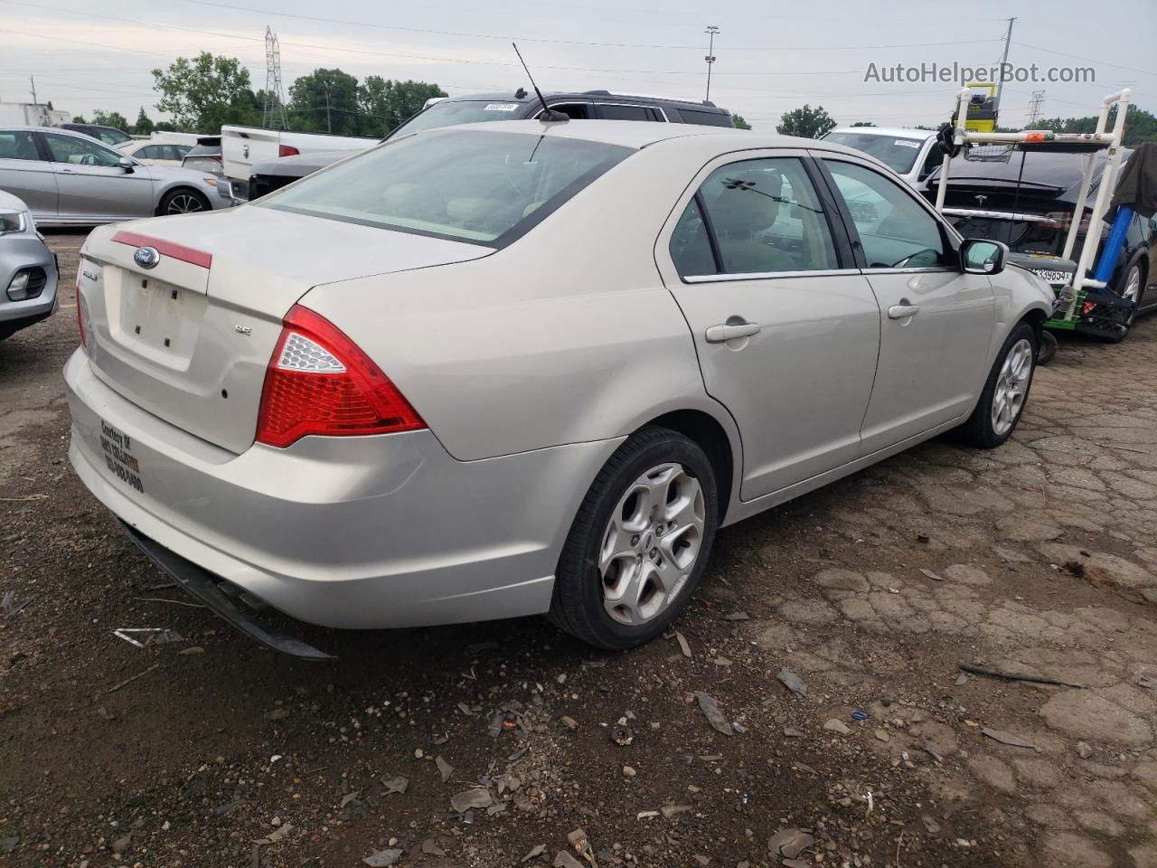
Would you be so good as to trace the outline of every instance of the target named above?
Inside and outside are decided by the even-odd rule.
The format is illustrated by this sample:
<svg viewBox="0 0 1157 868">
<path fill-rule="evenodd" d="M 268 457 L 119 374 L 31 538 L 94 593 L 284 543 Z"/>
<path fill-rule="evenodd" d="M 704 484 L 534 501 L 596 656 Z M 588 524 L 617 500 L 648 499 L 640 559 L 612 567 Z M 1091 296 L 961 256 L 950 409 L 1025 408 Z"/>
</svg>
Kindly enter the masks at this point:
<svg viewBox="0 0 1157 868">
<path fill-rule="evenodd" d="M 627 96 L 612 94 L 610 90 L 551 93 L 543 96 L 551 110 L 560 111 L 575 120 L 649 120 L 659 124 L 735 126 L 731 112 L 710 102 Z M 452 96 L 427 105 L 410 120 L 395 127 L 386 138 L 484 120 L 526 120 L 537 118 L 541 113 L 543 105 L 538 96 L 526 93 L 523 88 L 518 88 L 514 94 Z M 241 191 L 235 186 L 234 196 L 257 199 L 349 155 L 348 150 L 334 150 L 258 163 L 253 167 L 253 174 L 249 176 L 249 190 Z"/>
</svg>

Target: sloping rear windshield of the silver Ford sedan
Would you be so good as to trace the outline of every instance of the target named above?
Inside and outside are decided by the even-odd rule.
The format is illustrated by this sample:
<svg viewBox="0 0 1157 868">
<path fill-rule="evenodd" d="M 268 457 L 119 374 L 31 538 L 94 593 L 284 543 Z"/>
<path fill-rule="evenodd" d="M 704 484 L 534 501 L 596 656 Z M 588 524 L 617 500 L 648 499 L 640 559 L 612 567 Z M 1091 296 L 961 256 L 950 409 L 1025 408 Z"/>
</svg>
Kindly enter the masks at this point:
<svg viewBox="0 0 1157 868">
<path fill-rule="evenodd" d="M 633 153 L 550 134 L 407 135 L 255 207 L 504 247 Z"/>
</svg>

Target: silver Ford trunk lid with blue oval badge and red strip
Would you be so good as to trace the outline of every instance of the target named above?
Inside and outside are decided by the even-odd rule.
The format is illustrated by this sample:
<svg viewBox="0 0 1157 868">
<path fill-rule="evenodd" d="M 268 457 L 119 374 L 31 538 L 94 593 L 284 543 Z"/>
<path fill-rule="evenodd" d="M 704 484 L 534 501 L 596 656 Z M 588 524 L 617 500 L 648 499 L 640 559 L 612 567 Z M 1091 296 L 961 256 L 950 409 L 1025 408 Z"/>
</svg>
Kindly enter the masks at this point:
<svg viewBox="0 0 1157 868">
<path fill-rule="evenodd" d="M 282 318 L 310 288 L 491 252 L 259 207 L 105 227 L 78 277 L 89 361 L 138 406 L 241 453 Z"/>
</svg>

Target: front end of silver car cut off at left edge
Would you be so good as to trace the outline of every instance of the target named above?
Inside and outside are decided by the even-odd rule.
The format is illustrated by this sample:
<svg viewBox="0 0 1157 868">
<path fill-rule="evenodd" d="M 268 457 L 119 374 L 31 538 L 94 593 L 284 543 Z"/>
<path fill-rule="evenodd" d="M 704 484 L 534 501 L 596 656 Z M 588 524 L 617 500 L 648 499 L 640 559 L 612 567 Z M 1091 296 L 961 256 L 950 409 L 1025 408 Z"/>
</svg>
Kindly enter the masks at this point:
<svg viewBox="0 0 1157 868">
<path fill-rule="evenodd" d="M 57 309 L 57 258 L 28 206 L 0 191 L 0 340 Z"/>
</svg>

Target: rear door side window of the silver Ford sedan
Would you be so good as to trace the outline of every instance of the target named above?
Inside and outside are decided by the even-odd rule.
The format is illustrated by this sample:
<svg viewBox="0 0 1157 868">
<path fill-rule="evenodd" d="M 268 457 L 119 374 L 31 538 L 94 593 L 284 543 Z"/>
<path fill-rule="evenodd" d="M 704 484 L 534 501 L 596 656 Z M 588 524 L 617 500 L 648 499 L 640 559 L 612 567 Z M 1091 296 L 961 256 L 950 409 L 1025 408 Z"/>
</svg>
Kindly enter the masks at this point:
<svg viewBox="0 0 1157 868">
<path fill-rule="evenodd" d="M 839 267 L 819 197 L 796 157 L 745 160 L 724 165 L 708 176 L 697 198 L 706 209 L 724 273 Z M 698 230 L 691 231 L 699 207 L 695 201 L 688 204 L 687 211 L 695 213 L 684 213 L 671 242 L 671 256 L 684 277 L 692 273 L 683 270 L 680 258 L 695 263 L 703 259 Z M 698 216 L 702 219 L 702 214 Z M 700 252 L 688 252 L 692 243 Z"/>
</svg>

